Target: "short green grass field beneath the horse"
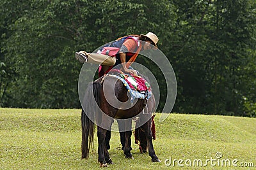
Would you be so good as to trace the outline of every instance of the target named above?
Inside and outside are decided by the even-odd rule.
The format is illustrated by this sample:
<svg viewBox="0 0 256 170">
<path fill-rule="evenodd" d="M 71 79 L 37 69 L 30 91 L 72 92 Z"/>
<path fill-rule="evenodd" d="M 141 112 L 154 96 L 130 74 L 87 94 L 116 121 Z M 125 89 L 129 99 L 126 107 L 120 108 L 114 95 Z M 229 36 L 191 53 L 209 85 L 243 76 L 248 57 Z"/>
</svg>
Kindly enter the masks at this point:
<svg viewBox="0 0 256 170">
<path fill-rule="evenodd" d="M 0 169 L 100 169 L 97 136 L 88 160 L 81 160 L 81 110 L 0 108 Z M 112 133 L 108 169 L 256 169 L 256 119 L 171 114 L 163 123 L 156 116 L 156 141 L 160 163 L 140 154 L 132 143 L 134 160 L 125 159 L 117 132 Z M 132 136 L 132 141 L 134 137 Z M 166 159 L 237 159 L 254 167 L 166 166 Z M 221 160 L 219 159 L 219 160 Z M 168 162 L 167 162 L 168 163 Z M 183 162 L 184 164 L 184 162 Z"/>
</svg>

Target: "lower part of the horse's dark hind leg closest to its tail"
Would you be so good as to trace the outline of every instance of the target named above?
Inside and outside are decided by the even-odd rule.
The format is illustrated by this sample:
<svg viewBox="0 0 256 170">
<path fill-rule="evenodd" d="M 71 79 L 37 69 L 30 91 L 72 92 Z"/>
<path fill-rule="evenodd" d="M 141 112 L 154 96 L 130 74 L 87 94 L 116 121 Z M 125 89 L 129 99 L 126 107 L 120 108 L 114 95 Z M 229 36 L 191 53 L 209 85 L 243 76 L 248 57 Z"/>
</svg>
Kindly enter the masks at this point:
<svg viewBox="0 0 256 170">
<path fill-rule="evenodd" d="M 101 127 L 97 127 L 97 137 L 98 137 L 98 161 L 100 162 L 100 167 L 107 167 L 108 164 L 105 160 L 105 154 L 107 153 L 109 157 L 108 150 L 106 148 L 105 138 L 106 138 L 106 129 L 102 129 Z"/>
</svg>

